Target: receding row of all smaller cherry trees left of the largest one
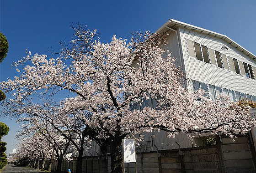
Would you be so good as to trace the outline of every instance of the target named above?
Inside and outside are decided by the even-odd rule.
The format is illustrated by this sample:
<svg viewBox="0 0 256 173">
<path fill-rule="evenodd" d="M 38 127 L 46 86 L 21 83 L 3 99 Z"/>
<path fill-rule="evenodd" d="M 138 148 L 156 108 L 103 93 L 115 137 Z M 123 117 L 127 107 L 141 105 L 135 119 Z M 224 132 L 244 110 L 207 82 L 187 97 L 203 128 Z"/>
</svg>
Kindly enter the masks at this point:
<svg viewBox="0 0 256 173">
<path fill-rule="evenodd" d="M 47 159 L 50 161 L 57 159 L 56 172 L 60 173 L 63 159 L 72 159 L 72 154 L 75 154 L 78 156 L 78 162 L 82 160 L 84 149 L 89 146 L 91 140 L 85 141 L 85 135 L 81 131 L 84 124 L 76 116 L 64 117 L 64 114 L 59 117 L 59 109 L 53 104 L 52 102 L 45 102 L 42 105 L 30 104 L 29 107 L 19 109 L 18 112 L 26 116 L 17 120 L 23 124 L 17 134 L 22 141 L 17 158 L 21 161 L 29 159 L 37 163 L 36 167 L 39 166 L 38 160 L 43 160 L 44 165 Z M 77 168 L 80 165 L 78 163 Z M 48 166 L 48 169 L 51 169 L 51 166 Z"/>
</svg>

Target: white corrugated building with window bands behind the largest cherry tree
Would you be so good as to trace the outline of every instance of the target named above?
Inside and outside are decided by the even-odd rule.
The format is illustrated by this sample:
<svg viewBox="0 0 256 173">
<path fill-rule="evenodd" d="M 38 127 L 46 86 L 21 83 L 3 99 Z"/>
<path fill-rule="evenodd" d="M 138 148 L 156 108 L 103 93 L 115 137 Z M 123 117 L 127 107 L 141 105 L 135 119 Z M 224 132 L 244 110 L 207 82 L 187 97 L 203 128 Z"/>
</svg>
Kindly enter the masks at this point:
<svg viewBox="0 0 256 173">
<path fill-rule="evenodd" d="M 192 82 L 186 82 L 186 87 L 202 88 L 208 91 L 212 100 L 223 92 L 234 102 L 243 98 L 256 101 L 256 56 L 228 36 L 173 19 L 156 33 L 169 33 L 166 34 L 168 44 L 162 48 L 171 52 L 176 58 L 176 66 L 192 79 Z M 192 147 L 186 134 L 180 133 L 175 139 L 169 139 L 166 132 L 153 132 L 145 135 L 141 149 L 176 149 L 176 142 L 181 148 Z M 194 137 L 194 142 L 203 145 L 198 137 Z"/>
</svg>

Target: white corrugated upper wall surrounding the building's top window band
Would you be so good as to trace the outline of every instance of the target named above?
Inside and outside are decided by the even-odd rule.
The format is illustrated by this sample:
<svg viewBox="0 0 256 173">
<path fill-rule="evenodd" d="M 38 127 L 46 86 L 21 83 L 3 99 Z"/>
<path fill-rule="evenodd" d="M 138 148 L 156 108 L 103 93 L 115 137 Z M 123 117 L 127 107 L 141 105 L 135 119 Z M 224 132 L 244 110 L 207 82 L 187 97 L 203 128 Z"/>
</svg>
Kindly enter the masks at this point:
<svg viewBox="0 0 256 173">
<path fill-rule="evenodd" d="M 188 56 L 186 40 L 190 39 L 213 50 L 219 51 L 227 56 L 231 56 L 239 61 L 250 64 L 251 66 L 256 66 L 256 61 L 235 49 L 235 47 L 230 46 L 229 43 L 223 39 L 185 28 L 179 28 L 179 31 L 184 67 L 188 78 L 203 81 L 214 86 L 222 86 L 230 90 L 244 92 L 254 96 L 256 95 L 256 80 Z M 228 52 L 221 49 L 222 44 L 228 46 Z"/>
</svg>

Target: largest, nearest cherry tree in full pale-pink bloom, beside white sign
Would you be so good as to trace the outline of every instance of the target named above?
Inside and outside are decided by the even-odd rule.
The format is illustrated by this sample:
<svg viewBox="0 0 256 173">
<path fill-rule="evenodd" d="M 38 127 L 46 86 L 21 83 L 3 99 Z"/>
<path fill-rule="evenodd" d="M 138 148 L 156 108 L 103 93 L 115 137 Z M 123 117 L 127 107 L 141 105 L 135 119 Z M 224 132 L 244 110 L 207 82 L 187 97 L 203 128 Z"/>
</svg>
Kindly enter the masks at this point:
<svg viewBox="0 0 256 173">
<path fill-rule="evenodd" d="M 84 123 L 86 137 L 103 151 L 111 146 L 112 173 L 123 172 L 122 139 L 141 132 L 164 130 L 169 137 L 179 132 L 222 132 L 232 137 L 255 126 L 246 113 L 249 107 L 224 96 L 213 102 L 202 91 L 184 88 L 181 81 L 186 79 L 174 65 L 175 59 L 171 54 L 162 57 L 165 50 L 160 45 L 167 44 L 164 36 L 135 33 L 129 41 L 113 36 L 105 44 L 97 39 L 96 30 L 80 25 L 74 30 L 73 40 L 63 45 L 59 57 L 29 52 L 14 63 L 21 74 L 0 83 L 12 95 L 4 104 L 19 110 L 29 107 L 33 96 L 53 97 L 62 90 L 75 93 L 61 101 L 59 113 L 75 112 Z M 153 99 L 156 107 L 131 109 L 133 103 L 147 99 Z"/>
</svg>

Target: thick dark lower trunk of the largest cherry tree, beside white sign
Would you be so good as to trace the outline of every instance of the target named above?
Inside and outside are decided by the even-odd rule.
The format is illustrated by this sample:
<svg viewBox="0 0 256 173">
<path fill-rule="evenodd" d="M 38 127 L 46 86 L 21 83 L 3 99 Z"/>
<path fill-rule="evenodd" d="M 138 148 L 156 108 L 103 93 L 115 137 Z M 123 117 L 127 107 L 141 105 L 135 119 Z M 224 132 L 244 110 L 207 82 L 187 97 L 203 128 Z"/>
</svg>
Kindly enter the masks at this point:
<svg viewBox="0 0 256 173">
<path fill-rule="evenodd" d="M 123 173 L 123 154 L 120 151 L 122 139 L 115 140 L 111 144 L 111 173 Z"/>
</svg>

